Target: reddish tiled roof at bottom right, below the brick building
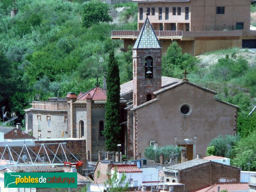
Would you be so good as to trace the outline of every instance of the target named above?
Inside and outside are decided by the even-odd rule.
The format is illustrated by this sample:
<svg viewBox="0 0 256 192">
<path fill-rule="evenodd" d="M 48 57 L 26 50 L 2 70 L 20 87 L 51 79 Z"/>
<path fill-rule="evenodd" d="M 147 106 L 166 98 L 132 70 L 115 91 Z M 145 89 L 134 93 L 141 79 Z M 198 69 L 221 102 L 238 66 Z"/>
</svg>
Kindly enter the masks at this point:
<svg viewBox="0 0 256 192">
<path fill-rule="evenodd" d="M 206 187 L 196 192 L 218 192 L 218 186 L 220 186 L 220 191 L 227 189 L 228 192 L 244 191 L 249 189 L 248 183 L 225 183 L 225 184 L 214 184 L 213 186 Z"/>
</svg>

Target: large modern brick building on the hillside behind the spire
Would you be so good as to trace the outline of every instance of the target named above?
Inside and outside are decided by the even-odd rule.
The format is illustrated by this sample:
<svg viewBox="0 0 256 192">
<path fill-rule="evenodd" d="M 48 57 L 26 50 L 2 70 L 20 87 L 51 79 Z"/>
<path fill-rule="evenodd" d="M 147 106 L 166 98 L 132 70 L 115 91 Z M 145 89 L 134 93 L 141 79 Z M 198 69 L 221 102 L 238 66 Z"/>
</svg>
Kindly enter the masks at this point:
<svg viewBox="0 0 256 192">
<path fill-rule="evenodd" d="M 250 30 L 250 0 L 132 0 L 138 3 L 138 31 L 112 31 L 124 48 L 133 45 L 148 12 L 163 52 L 172 41 L 183 52 L 200 55 L 229 47 L 256 48 Z M 148 10 L 148 11 L 147 11 Z"/>
</svg>

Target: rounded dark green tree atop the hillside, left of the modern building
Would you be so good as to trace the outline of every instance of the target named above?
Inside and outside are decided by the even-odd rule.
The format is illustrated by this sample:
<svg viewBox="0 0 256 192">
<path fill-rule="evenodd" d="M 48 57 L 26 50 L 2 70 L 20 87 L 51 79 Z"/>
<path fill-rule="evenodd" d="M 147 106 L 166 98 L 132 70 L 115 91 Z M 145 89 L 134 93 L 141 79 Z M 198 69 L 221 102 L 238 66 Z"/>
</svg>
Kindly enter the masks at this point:
<svg viewBox="0 0 256 192">
<path fill-rule="evenodd" d="M 110 22 L 112 18 L 108 15 L 109 7 L 107 3 L 100 1 L 92 2 L 84 5 L 83 10 L 83 26 L 86 28 L 91 27 L 93 24 L 100 22 Z"/>
</svg>

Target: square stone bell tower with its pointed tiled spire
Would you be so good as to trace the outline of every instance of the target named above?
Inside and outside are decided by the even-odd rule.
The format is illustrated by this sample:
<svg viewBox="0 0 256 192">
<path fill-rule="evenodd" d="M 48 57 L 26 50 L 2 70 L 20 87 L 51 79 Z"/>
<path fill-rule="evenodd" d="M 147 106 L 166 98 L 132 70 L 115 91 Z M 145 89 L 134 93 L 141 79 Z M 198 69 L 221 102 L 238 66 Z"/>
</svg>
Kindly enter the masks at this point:
<svg viewBox="0 0 256 192">
<path fill-rule="evenodd" d="M 133 47 L 133 106 L 151 99 L 162 87 L 162 48 L 146 17 Z"/>
</svg>

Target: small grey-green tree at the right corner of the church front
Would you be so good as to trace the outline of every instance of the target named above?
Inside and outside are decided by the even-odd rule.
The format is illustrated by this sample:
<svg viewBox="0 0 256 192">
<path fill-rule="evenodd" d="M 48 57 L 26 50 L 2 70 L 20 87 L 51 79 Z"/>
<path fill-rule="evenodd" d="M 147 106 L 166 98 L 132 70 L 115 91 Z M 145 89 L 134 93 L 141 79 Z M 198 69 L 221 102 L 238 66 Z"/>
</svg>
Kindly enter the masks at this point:
<svg viewBox="0 0 256 192">
<path fill-rule="evenodd" d="M 212 139 L 208 147 L 215 147 L 215 155 L 230 158 L 232 156 L 232 147 L 237 141 L 239 141 L 239 138 L 240 137 L 236 135 L 225 135 L 224 137 L 219 135 L 218 137 Z"/>
</svg>

